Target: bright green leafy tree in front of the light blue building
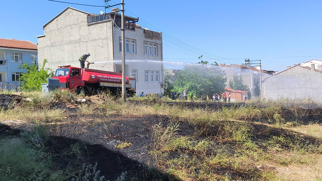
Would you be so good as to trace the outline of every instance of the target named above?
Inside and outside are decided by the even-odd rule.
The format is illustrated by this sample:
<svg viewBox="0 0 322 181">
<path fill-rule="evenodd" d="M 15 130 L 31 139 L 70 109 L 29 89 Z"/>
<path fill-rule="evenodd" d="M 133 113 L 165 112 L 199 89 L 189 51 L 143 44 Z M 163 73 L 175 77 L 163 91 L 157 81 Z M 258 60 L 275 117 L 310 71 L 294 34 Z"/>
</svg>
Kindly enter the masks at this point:
<svg viewBox="0 0 322 181">
<path fill-rule="evenodd" d="M 22 63 L 18 69 L 25 69 L 27 72 L 23 73 L 20 77 L 22 81 L 22 90 L 24 91 L 41 91 L 42 83 L 47 83 L 47 78 L 51 77 L 52 71 L 48 68 L 44 68 L 47 60 L 43 61 L 43 66 L 38 70 L 38 64 L 34 63 Z M 48 73 L 50 72 L 50 73 Z"/>
</svg>

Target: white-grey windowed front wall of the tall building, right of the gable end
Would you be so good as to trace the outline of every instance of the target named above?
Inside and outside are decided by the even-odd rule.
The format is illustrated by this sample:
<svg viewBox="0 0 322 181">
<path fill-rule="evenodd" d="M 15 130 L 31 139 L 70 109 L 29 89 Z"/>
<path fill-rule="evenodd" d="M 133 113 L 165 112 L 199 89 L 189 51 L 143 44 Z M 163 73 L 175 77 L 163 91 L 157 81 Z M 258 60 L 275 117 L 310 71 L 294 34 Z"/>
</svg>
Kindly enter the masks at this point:
<svg viewBox="0 0 322 181">
<path fill-rule="evenodd" d="M 115 60 L 122 59 L 122 53 L 119 51 L 119 37 L 121 37 L 121 31 L 114 27 L 114 58 Z M 132 76 L 132 70 L 137 70 L 137 95 L 144 92 L 144 94 L 150 93 L 164 93 L 164 89 L 161 87 L 163 83 L 163 62 L 162 62 L 162 37 L 161 40 L 150 40 L 144 37 L 143 29 L 136 28 L 135 31 L 126 30 L 125 38 L 133 39 L 136 41 L 136 53 L 125 53 L 126 75 Z M 144 42 L 151 42 L 157 44 L 158 54 L 157 56 L 144 54 Z M 137 61 L 138 62 L 135 62 Z M 131 62 L 133 61 L 133 62 Z M 144 62 L 140 62 L 144 61 Z M 148 62 L 150 61 L 150 62 Z M 121 63 L 116 62 L 116 70 L 121 69 Z M 158 82 L 145 82 L 145 71 L 159 71 Z"/>
</svg>

